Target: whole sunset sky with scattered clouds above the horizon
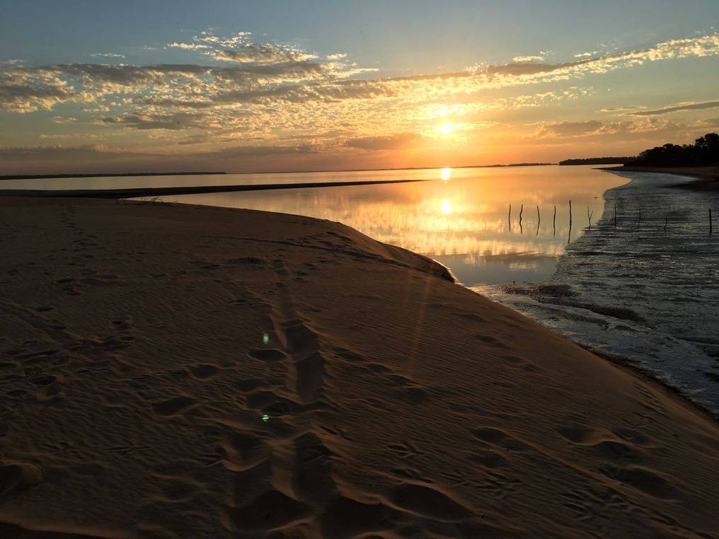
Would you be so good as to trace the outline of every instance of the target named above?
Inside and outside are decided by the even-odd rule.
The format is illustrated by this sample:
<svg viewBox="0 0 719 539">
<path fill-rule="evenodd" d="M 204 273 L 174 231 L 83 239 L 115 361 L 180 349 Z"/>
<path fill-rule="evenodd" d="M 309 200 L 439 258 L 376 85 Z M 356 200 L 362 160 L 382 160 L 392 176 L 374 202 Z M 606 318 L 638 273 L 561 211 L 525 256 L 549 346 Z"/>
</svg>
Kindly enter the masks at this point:
<svg viewBox="0 0 719 539">
<path fill-rule="evenodd" d="M 719 131 L 716 0 L 0 1 L 0 174 L 557 162 Z"/>
</svg>

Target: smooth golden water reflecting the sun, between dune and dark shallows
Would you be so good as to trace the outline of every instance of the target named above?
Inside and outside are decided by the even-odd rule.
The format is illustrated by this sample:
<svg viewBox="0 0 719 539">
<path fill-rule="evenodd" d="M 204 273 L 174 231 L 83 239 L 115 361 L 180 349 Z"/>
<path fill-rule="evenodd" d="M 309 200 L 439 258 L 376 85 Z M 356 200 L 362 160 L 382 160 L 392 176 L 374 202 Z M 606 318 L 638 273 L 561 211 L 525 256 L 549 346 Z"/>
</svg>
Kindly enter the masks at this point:
<svg viewBox="0 0 719 539">
<path fill-rule="evenodd" d="M 278 175 L 268 175 L 275 183 Z M 340 221 L 374 239 L 425 254 L 465 285 L 536 282 L 554 273 L 569 239 L 583 234 L 587 207 L 602 214 L 602 194 L 626 180 L 591 167 L 512 167 L 283 175 L 285 182 L 422 178 L 400 185 L 183 195 L 172 200 L 298 213 Z M 169 199 L 168 199 L 169 200 Z M 508 219 L 509 205 L 512 216 Z M 519 212 L 524 205 L 522 221 Z M 554 206 L 557 206 L 556 229 Z M 539 206 L 540 217 L 537 217 Z"/>
</svg>

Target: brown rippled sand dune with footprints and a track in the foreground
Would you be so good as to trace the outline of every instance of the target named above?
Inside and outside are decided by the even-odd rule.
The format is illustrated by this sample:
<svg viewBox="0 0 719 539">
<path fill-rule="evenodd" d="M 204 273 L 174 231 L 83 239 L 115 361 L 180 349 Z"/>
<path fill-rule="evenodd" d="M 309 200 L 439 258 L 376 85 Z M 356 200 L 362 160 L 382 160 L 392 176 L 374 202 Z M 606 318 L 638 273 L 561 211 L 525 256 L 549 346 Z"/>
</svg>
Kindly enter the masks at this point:
<svg viewBox="0 0 719 539">
<path fill-rule="evenodd" d="M 715 423 L 347 226 L 5 198 L 0 252 L 2 537 L 719 537 Z"/>
</svg>

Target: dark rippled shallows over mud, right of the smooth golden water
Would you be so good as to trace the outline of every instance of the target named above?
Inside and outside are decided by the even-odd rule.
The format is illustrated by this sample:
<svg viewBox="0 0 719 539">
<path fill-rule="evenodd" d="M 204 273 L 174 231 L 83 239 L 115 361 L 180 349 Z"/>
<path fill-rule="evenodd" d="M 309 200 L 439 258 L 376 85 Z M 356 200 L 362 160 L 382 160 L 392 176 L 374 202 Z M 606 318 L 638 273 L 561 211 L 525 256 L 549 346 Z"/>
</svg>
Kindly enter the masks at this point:
<svg viewBox="0 0 719 539">
<path fill-rule="evenodd" d="M 667 188 L 692 181 L 674 175 L 624 175 L 631 183 L 605 193 L 602 219 L 552 277 L 473 289 L 719 415 L 719 231 L 709 234 L 708 219 L 719 193 Z"/>
</svg>

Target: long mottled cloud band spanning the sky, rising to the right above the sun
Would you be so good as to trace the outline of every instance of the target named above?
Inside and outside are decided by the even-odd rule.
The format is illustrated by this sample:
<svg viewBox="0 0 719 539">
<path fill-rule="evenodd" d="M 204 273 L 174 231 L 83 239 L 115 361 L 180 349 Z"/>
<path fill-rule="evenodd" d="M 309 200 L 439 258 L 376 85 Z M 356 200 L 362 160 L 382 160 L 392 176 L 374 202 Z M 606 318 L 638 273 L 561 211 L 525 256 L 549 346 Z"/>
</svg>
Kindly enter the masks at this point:
<svg viewBox="0 0 719 539">
<path fill-rule="evenodd" d="M 331 55 L 333 61 L 322 62 L 316 55 L 296 47 L 250 42 L 247 32 L 228 38 L 200 34 L 193 37 L 192 42 L 170 45 L 190 48 L 203 57 L 234 65 L 1 65 L 0 109 L 30 112 L 50 109 L 58 103 L 102 101 L 123 94 L 140 97 L 147 93 L 157 100 L 152 106 L 160 106 L 165 100 L 168 108 L 176 103 L 185 109 L 193 108 L 193 101 L 232 106 L 272 101 L 308 103 L 395 98 L 409 103 L 469 95 L 491 88 L 581 78 L 587 73 L 605 73 L 668 58 L 719 55 L 719 36 L 712 34 L 569 63 L 475 65 L 459 73 L 354 79 L 355 75 L 369 70 L 350 63 L 345 57 L 336 57 L 344 53 Z M 296 86 L 292 86 L 293 83 Z M 135 103 L 142 104 L 141 101 Z M 195 108 L 204 106 L 200 104 Z"/>
</svg>

